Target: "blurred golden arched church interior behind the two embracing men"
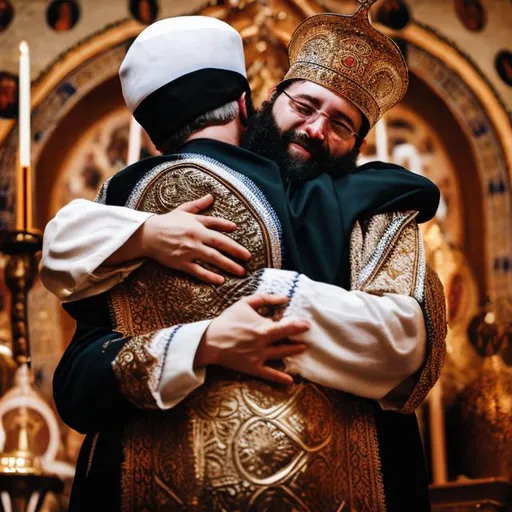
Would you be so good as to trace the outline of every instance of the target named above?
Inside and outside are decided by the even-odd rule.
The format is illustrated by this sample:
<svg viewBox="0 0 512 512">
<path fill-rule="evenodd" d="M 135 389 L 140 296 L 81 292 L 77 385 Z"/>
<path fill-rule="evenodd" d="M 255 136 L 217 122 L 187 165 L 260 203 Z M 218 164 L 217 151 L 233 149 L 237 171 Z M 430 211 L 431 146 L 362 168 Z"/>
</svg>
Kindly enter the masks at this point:
<svg viewBox="0 0 512 512">
<path fill-rule="evenodd" d="M 203 14 L 233 25 L 244 39 L 259 106 L 287 69 L 295 27 L 318 12 L 356 7 L 351 0 L 0 0 L 0 230 L 16 223 L 23 40 L 30 50 L 34 224 L 44 230 L 63 205 L 93 199 L 126 165 L 134 125 L 117 73 L 147 24 Z M 403 165 L 442 193 L 435 219 L 421 226 L 449 320 L 442 378 L 417 412 L 432 500 L 436 510 L 506 510 L 512 499 L 512 1 L 379 0 L 371 15 L 404 52 L 410 86 L 370 132 L 360 162 Z M 157 154 L 144 132 L 137 152 Z M 0 395 L 12 388 L 16 367 L 7 260 L 0 254 Z M 28 321 L 33 386 L 52 409 L 53 371 L 74 322 L 37 277 Z M 0 407 L 2 414 L 0 452 L 20 424 L 12 411 Z M 30 449 L 44 455 L 57 443 L 55 467 L 65 482 L 43 508 L 64 511 L 82 436 L 58 418 L 57 429 L 48 426 L 35 409 L 29 416 Z M 7 492 L 1 478 L 0 491 Z"/>
</svg>

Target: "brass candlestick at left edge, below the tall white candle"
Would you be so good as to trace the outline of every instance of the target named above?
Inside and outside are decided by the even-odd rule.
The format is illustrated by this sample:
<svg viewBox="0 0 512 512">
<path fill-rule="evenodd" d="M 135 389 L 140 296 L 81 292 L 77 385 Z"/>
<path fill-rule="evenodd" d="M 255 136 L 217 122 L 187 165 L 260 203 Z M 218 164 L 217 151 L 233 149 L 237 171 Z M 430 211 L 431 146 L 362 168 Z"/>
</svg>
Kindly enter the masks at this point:
<svg viewBox="0 0 512 512">
<path fill-rule="evenodd" d="M 1 247 L 7 255 L 5 282 L 12 294 L 12 357 L 18 368 L 14 387 L 0 399 L 0 489 L 7 491 L 10 501 L 5 505 L 7 498 L 2 496 L 0 511 L 4 506 L 16 512 L 26 511 L 29 506 L 37 511 L 49 490 L 60 492 L 64 486 L 44 468 L 45 462 L 54 460 L 58 426 L 51 408 L 32 386 L 27 298 L 37 275 L 36 254 L 41 250 L 42 236 L 35 230 L 9 231 Z M 6 425 L 7 417 L 10 421 Z M 45 424 L 50 443 L 46 452 L 38 455 L 33 452 L 34 439 Z M 13 431 L 9 437 L 7 433 Z"/>
</svg>

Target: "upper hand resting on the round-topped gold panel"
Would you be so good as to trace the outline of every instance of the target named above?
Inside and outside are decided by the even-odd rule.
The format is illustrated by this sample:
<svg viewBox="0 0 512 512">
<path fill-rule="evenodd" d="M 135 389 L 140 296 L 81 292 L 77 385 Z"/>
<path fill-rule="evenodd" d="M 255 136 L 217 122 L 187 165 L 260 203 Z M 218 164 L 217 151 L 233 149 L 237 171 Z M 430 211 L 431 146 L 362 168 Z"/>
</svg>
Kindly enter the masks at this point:
<svg viewBox="0 0 512 512">
<path fill-rule="evenodd" d="M 199 215 L 213 200 L 213 196 L 208 194 L 184 203 L 169 213 L 150 217 L 140 233 L 143 255 L 211 284 L 222 284 L 224 277 L 199 263 L 209 263 L 237 276 L 245 275 L 245 269 L 230 257 L 247 261 L 251 253 L 219 233 L 234 231 L 236 224 L 217 217 Z"/>
</svg>

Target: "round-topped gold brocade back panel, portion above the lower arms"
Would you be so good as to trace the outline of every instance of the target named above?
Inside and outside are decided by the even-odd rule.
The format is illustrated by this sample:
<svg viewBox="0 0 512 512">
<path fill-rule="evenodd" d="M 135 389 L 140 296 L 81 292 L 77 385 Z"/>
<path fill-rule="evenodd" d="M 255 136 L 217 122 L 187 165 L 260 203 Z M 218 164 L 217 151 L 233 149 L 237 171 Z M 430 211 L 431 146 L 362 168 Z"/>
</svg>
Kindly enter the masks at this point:
<svg viewBox="0 0 512 512">
<path fill-rule="evenodd" d="M 247 278 L 226 274 L 221 286 L 198 282 L 182 272 L 146 262 L 110 294 L 113 325 L 125 335 L 214 318 L 256 290 L 256 270 L 280 264 L 280 259 L 275 260 L 275 254 L 280 254 L 275 223 L 269 218 L 263 220 L 238 187 L 220 178 L 221 169 L 214 171 L 198 162 L 178 161 L 162 164 L 155 171 L 158 172 L 149 173 L 151 179 L 144 188 L 136 191 L 137 209 L 163 213 L 211 193 L 215 203 L 208 213 L 235 222 L 238 229 L 232 238 L 247 247 L 253 257 L 246 264 Z M 130 201 L 133 200 L 132 197 Z M 267 229 L 269 226 L 271 229 Z"/>
</svg>

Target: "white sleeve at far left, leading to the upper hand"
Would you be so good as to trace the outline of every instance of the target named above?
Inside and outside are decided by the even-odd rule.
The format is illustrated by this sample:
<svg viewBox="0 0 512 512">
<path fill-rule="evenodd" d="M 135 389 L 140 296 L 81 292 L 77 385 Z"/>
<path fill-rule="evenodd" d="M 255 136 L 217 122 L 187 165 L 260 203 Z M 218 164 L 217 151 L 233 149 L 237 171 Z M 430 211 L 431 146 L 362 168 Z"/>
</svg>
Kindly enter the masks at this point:
<svg viewBox="0 0 512 512">
<path fill-rule="evenodd" d="M 102 263 L 146 222 L 152 213 L 75 199 L 47 224 L 40 276 L 44 286 L 63 302 L 109 290 L 140 266 Z"/>
</svg>

